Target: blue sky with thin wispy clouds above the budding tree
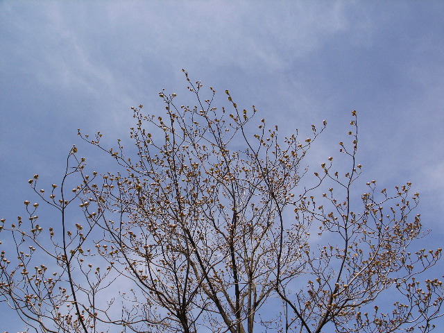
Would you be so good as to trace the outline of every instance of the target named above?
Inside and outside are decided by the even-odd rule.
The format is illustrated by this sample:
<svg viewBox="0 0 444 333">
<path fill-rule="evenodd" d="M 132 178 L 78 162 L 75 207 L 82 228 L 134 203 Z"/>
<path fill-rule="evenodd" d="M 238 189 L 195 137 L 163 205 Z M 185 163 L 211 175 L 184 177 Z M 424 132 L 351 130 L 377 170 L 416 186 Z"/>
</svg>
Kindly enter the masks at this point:
<svg viewBox="0 0 444 333">
<path fill-rule="evenodd" d="M 325 119 L 314 163 L 357 110 L 360 181 L 412 182 L 427 246 L 444 245 L 443 1 L 0 1 L 0 216 L 36 200 L 33 174 L 60 180 L 73 144 L 106 169 L 77 129 L 128 137 L 130 108 L 163 112 L 182 69 L 283 133 Z M 22 330 L 0 309 L 1 332 Z"/>
</svg>

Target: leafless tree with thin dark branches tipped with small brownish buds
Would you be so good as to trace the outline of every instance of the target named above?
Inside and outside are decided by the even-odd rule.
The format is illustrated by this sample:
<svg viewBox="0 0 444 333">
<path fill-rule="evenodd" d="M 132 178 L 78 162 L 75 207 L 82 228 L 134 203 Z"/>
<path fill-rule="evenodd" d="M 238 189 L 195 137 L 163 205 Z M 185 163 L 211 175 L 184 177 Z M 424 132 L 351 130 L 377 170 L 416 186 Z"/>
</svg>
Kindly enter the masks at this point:
<svg viewBox="0 0 444 333">
<path fill-rule="evenodd" d="M 314 184 L 302 186 L 302 160 L 325 121 L 302 141 L 297 132 L 282 138 L 264 119 L 250 135 L 254 106 L 240 110 L 227 90 L 231 111 L 214 108 L 215 90 L 203 100 L 203 85 L 185 75 L 196 106 L 178 106 L 176 94 L 162 90 L 164 117 L 132 108 L 135 149 L 121 140 L 106 148 L 100 132 L 91 138 L 79 130 L 114 158 L 114 172 L 88 176 L 74 146 L 61 185 L 44 191 L 38 175 L 28 181 L 58 211 L 58 225 L 39 223 L 38 203 L 27 200 L 28 221 L 1 220 L 3 237 L 15 247 L 1 251 L 1 296 L 29 327 L 433 330 L 432 321 L 443 316 L 443 285 L 419 278 L 441 248 L 411 253 L 424 235 L 420 215 L 412 213 L 419 194 L 411 196 L 411 183 L 390 193 L 372 181 L 367 193 L 354 192 L 361 173 L 357 113 L 351 144 L 340 144 L 350 163 L 345 176 L 329 157 Z M 378 301 L 384 293 L 392 305 Z"/>
</svg>

